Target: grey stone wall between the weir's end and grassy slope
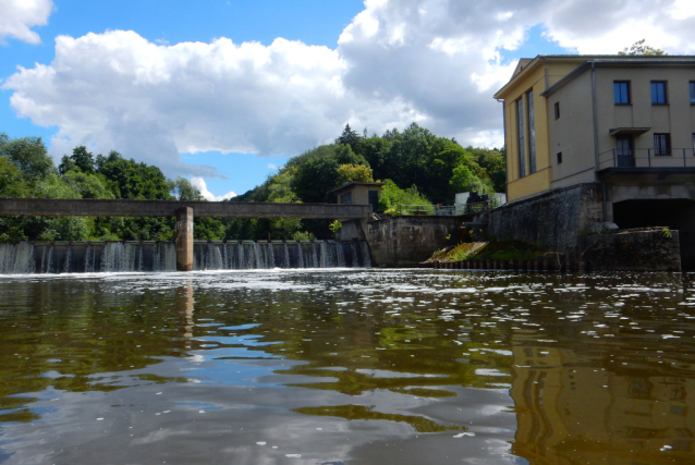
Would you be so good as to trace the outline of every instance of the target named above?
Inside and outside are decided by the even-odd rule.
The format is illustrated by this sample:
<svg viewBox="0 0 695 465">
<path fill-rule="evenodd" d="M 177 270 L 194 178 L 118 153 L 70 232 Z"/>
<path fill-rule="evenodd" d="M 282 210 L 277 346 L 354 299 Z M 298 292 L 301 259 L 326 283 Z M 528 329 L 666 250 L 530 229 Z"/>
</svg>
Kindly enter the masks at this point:
<svg viewBox="0 0 695 465">
<path fill-rule="evenodd" d="M 367 242 L 375 267 L 417 267 L 449 244 L 461 217 L 394 217 L 367 223 Z"/>
</svg>

